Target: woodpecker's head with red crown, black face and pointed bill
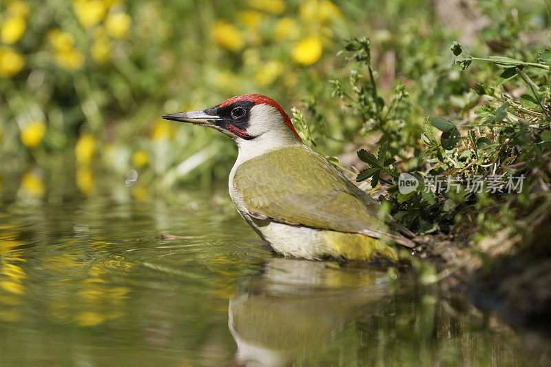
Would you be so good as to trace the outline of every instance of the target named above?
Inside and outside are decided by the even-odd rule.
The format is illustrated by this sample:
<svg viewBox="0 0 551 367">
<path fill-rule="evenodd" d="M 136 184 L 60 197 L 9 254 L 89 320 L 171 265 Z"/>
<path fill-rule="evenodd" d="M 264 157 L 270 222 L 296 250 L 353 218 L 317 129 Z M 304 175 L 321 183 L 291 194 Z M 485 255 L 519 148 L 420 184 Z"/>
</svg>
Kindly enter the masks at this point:
<svg viewBox="0 0 551 367">
<path fill-rule="evenodd" d="M 243 94 L 202 111 L 164 115 L 167 120 L 212 127 L 238 145 L 260 136 L 300 140 L 291 119 L 273 99 L 260 94 Z"/>
</svg>

